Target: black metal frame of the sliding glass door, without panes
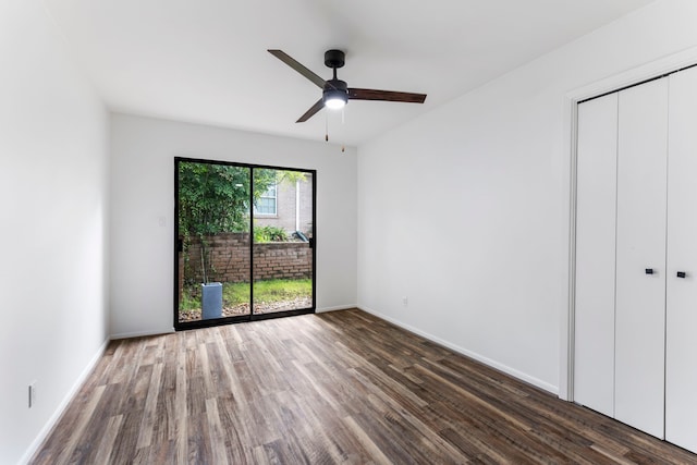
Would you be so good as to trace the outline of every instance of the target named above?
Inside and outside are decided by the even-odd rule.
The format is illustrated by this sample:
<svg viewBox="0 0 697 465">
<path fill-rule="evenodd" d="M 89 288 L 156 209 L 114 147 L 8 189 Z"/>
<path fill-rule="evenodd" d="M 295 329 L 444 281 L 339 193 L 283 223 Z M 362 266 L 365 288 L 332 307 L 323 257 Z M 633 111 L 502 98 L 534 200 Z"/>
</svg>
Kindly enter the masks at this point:
<svg viewBox="0 0 697 465">
<path fill-rule="evenodd" d="M 309 247 L 313 249 L 313 306 L 310 308 L 299 308 L 294 310 L 276 311 L 270 314 L 254 314 L 254 212 L 249 215 L 249 314 L 239 315 L 234 317 L 211 318 L 201 319 L 196 321 L 180 321 L 179 320 L 179 254 L 182 248 L 182 243 L 179 236 L 179 163 L 180 162 L 194 162 L 194 163 L 207 163 L 207 164 L 222 164 L 227 167 L 240 167 L 249 170 L 249 206 L 254 205 L 254 170 L 255 169 L 271 169 L 280 171 L 296 171 L 303 173 L 310 173 L 313 176 L 313 237 L 309 242 Z M 205 160 L 187 157 L 174 157 L 174 221 L 173 221 L 173 234 L 174 234 L 174 281 L 173 281 L 173 307 L 174 307 L 174 329 L 176 331 L 208 328 L 220 325 L 230 325 L 237 322 L 247 322 L 256 320 L 266 320 L 271 318 L 283 318 L 295 315 L 314 314 L 317 308 L 316 294 L 317 294 L 317 170 L 307 170 L 301 168 L 286 168 L 274 167 L 268 164 L 250 164 L 241 163 L 236 161 L 220 161 L 220 160 Z"/>
</svg>

